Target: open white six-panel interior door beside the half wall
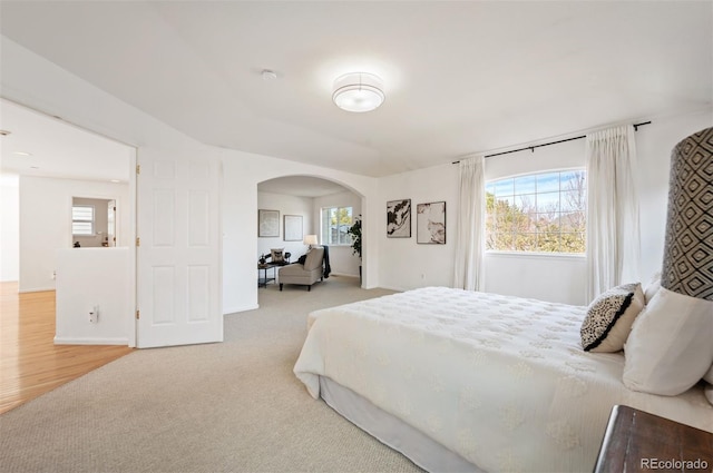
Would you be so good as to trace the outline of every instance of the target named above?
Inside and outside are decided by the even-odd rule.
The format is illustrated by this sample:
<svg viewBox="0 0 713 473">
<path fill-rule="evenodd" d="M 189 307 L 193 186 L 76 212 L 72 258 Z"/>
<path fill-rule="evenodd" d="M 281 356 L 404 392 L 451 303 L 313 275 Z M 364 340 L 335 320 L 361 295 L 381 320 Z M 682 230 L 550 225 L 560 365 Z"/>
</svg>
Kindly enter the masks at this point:
<svg viewBox="0 0 713 473">
<path fill-rule="evenodd" d="M 223 341 L 218 160 L 139 149 L 137 346 Z"/>
</svg>

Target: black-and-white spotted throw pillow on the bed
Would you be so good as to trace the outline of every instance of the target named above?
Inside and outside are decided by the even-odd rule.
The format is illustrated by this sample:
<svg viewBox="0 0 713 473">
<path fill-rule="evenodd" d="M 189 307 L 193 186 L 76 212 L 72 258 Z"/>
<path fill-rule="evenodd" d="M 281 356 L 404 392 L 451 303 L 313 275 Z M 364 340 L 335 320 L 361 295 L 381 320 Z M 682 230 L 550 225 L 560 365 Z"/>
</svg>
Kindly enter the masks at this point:
<svg viewBox="0 0 713 473">
<path fill-rule="evenodd" d="M 624 348 L 634 319 L 644 308 L 644 293 L 638 283 L 613 287 L 595 298 L 582 323 L 585 352 L 612 353 Z"/>
</svg>

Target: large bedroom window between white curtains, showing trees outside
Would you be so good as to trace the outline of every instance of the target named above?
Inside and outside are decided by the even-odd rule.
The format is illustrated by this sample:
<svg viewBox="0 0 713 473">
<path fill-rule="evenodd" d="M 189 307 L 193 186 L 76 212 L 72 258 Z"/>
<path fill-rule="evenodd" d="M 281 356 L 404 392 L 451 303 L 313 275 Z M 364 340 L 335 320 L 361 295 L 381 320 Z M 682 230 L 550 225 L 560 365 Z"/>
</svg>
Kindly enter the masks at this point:
<svg viewBox="0 0 713 473">
<path fill-rule="evenodd" d="M 585 253 L 584 170 L 533 174 L 486 185 L 486 248 Z"/>
</svg>

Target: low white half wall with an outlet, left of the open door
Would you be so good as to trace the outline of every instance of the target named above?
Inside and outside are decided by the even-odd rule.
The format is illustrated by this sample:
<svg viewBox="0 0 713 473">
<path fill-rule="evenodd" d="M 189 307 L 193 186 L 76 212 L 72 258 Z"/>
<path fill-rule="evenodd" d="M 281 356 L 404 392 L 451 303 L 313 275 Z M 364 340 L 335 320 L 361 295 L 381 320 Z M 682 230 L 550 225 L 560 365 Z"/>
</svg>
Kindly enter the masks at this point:
<svg viewBox="0 0 713 473">
<path fill-rule="evenodd" d="M 56 344 L 128 345 L 133 331 L 129 248 L 56 252 Z M 96 323 L 89 322 L 98 309 Z"/>
</svg>

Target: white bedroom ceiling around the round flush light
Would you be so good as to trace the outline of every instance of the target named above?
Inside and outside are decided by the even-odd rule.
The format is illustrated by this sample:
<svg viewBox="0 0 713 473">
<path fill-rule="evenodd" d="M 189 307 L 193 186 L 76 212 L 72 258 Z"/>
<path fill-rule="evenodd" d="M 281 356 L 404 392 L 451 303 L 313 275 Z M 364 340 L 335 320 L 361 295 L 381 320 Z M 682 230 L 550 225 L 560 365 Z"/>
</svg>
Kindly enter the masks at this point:
<svg viewBox="0 0 713 473">
<path fill-rule="evenodd" d="M 3 36 L 199 141 L 365 176 L 713 101 L 710 1 L 0 8 Z M 383 79 L 381 108 L 332 104 L 351 71 Z"/>
</svg>

